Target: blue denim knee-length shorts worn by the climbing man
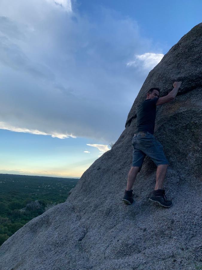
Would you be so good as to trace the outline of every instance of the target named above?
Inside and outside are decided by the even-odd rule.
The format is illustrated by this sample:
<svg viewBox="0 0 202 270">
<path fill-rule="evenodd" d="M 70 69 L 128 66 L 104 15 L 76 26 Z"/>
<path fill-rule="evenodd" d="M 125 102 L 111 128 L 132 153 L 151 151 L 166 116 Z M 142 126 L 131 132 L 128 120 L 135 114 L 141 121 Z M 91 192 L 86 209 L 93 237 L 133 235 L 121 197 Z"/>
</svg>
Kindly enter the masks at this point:
<svg viewBox="0 0 202 270">
<path fill-rule="evenodd" d="M 162 144 L 149 133 L 148 131 L 142 131 L 134 134 L 133 140 L 133 165 L 139 168 L 139 172 L 142 168 L 145 156 L 151 158 L 152 161 L 158 165 L 168 164 L 168 160 L 165 158 Z"/>
</svg>

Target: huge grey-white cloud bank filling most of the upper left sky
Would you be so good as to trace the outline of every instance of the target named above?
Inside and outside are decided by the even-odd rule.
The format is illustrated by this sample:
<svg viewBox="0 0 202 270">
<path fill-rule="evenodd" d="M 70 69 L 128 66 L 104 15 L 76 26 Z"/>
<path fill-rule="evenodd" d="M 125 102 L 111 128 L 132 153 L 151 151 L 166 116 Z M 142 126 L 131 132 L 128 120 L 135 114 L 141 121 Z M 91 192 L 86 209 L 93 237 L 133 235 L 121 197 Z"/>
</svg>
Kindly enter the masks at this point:
<svg viewBox="0 0 202 270">
<path fill-rule="evenodd" d="M 149 72 L 125 63 L 149 66 L 152 57 L 133 55 L 154 46 L 135 20 L 118 15 L 100 8 L 92 20 L 70 0 L 13 1 L 12 8 L 1 0 L 3 127 L 103 145 L 116 141 Z"/>
</svg>

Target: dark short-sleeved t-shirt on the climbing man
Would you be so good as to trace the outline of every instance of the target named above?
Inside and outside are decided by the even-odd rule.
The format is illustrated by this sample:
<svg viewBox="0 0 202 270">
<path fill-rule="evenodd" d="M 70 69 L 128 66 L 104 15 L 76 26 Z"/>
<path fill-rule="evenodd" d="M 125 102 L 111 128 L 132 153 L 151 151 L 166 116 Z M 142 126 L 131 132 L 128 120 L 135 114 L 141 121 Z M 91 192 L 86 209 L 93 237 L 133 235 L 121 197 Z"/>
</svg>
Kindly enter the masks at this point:
<svg viewBox="0 0 202 270">
<path fill-rule="evenodd" d="M 148 131 L 154 134 L 156 119 L 156 103 L 159 98 L 146 99 L 139 104 L 137 109 L 136 133 L 139 131 Z"/>
</svg>

